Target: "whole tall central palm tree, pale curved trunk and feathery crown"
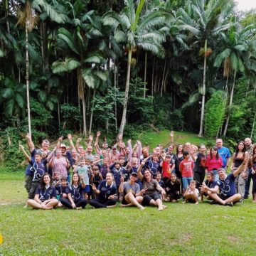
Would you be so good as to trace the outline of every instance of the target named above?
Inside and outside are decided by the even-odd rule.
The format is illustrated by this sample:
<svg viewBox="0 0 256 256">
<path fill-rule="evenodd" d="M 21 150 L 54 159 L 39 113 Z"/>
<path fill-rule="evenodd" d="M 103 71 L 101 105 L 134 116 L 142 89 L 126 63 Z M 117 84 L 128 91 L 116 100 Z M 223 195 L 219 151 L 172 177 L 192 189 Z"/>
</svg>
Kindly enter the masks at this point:
<svg viewBox="0 0 256 256">
<path fill-rule="evenodd" d="M 142 16 L 144 2 L 145 0 L 138 1 L 137 8 L 135 9 L 134 1 L 127 0 L 125 1 L 125 7 L 121 14 L 110 11 L 103 17 L 103 23 L 105 25 L 110 25 L 115 28 L 114 38 L 117 42 L 127 43 L 127 78 L 125 83 L 124 107 L 122 112 L 122 121 L 119 127 L 119 134 L 123 134 L 126 122 L 132 52 L 135 51 L 136 48 L 142 48 L 143 50 L 148 50 L 161 58 L 164 57 L 164 48 L 161 46 L 161 43 L 165 40 L 164 33 L 153 29 L 151 30 L 151 28 L 154 28 L 156 25 L 159 26 L 163 24 L 165 17 L 159 11 L 144 14 Z"/>
</svg>

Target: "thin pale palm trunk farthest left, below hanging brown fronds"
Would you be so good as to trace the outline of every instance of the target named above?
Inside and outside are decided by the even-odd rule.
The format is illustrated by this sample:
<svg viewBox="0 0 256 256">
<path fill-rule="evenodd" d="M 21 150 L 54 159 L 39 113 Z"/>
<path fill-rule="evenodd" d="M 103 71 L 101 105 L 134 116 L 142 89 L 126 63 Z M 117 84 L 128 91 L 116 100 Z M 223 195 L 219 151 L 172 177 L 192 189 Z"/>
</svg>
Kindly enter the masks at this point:
<svg viewBox="0 0 256 256">
<path fill-rule="evenodd" d="M 29 98 L 29 59 L 28 59 L 28 26 L 29 21 L 26 20 L 26 97 L 27 97 L 27 107 L 28 107 L 28 134 L 31 134 L 31 114 L 30 114 L 30 98 Z"/>
</svg>

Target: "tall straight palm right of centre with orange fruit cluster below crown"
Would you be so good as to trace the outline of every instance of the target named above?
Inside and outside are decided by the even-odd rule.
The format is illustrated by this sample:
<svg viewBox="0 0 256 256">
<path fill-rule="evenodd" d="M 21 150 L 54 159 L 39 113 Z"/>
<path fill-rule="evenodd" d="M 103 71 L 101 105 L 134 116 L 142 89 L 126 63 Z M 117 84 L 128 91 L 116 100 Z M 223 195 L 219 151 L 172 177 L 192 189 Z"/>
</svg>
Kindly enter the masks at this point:
<svg viewBox="0 0 256 256">
<path fill-rule="evenodd" d="M 201 47 L 203 53 L 203 90 L 202 90 L 202 105 L 201 105 L 201 122 L 199 137 L 203 136 L 203 118 L 206 98 L 206 68 L 207 57 L 210 55 L 215 40 L 220 31 L 228 29 L 226 16 L 233 10 L 232 1 L 223 0 L 193 0 L 191 5 L 188 5 L 186 11 L 178 10 L 178 14 L 182 16 L 181 27 L 189 31 L 196 37 L 196 42 Z M 202 48 L 203 46 L 203 48 Z M 210 46 L 211 48 L 208 48 Z"/>
</svg>

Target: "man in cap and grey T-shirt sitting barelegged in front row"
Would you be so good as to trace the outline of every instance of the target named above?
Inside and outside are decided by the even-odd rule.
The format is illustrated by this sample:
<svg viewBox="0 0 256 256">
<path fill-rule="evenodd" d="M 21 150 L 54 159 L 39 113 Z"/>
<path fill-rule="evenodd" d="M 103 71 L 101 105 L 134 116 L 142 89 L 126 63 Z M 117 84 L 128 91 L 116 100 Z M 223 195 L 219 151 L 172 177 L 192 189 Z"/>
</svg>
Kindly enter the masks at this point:
<svg viewBox="0 0 256 256">
<path fill-rule="evenodd" d="M 140 204 L 143 198 L 139 184 L 136 183 L 137 176 L 137 173 L 133 172 L 129 177 L 129 181 L 126 182 L 124 182 L 123 176 L 120 178 L 119 193 L 124 193 L 121 207 L 137 206 L 137 208 L 144 210 L 144 207 Z"/>
</svg>

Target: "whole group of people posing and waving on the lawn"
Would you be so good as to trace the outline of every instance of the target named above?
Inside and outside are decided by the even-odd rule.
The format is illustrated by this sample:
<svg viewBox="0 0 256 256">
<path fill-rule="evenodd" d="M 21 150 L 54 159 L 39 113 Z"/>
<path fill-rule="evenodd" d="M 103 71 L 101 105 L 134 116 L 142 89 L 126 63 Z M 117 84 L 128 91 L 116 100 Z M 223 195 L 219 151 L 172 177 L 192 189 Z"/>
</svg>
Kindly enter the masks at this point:
<svg viewBox="0 0 256 256">
<path fill-rule="evenodd" d="M 198 204 L 199 198 L 223 206 L 248 198 L 252 178 L 253 202 L 256 202 L 256 145 L 250 138 L 238 143 L 233 157 L 223 146 L 222 139 L 206 150 L 198 146 L 178 144 L 174 153 L 174 132 L 167 148 L 157 145 L 151 149 L 137 141 L 132 147 L 119 135 L 113 146 L 103 139 L 100 132 L 95 142 L 90 136 L 85 148 L 81 139 L 69 145 L 63 137 L 53 151 L 48 140 L 36 149 L 29 134 L 28 148 L 20 145 L 29 164 L 26 168 L 25 188 L 28 192 L 26 206 L 37 209 L 65 207 L 70 209 L 156 206 L 164 210 L 165 201 Z M 93 146 L 94 148 L 93 148 Z M 230 166 L 230 174 L 226 170 Z M 205 180 L 206 177 L 206 180 Z"/>
</svg>

